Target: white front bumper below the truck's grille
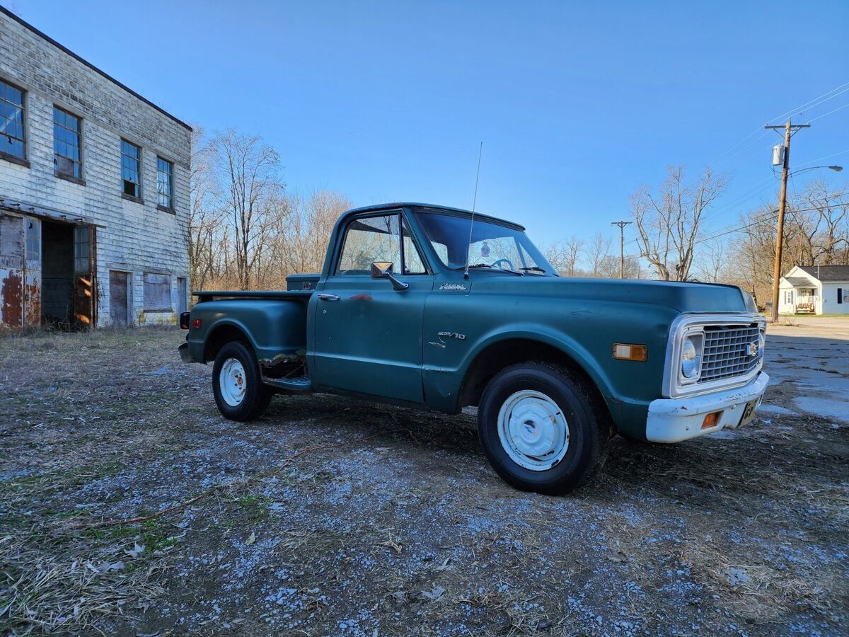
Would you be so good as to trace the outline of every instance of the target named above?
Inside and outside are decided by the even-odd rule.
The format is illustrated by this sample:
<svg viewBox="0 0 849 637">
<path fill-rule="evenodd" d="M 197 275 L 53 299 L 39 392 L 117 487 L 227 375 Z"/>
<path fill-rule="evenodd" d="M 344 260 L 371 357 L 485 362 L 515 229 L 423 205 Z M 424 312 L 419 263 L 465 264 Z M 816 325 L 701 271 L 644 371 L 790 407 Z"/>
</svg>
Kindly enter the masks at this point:
<svg viewBox="0 0 849 637">
<path fill-rule="evenodd" d="M 734 429 L 743 418 L 747 403 L 761 404 L 769 376 L 761 372 L 748 385 L 703 396 L 658 398 L 649 403 L 645 437 L 653 443 L 680 443 L 722 429 Z M 707 414 L 722 410 L 717 424 L 702 429 Z"/>
</svg>

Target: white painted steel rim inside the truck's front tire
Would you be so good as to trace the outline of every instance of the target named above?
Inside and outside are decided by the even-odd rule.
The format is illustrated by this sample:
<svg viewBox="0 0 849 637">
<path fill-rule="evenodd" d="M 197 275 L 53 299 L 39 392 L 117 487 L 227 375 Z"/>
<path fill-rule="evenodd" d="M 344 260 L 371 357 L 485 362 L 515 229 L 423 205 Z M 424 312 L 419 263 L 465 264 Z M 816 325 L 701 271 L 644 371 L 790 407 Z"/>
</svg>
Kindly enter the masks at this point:
<svg viewBox="0 0 849 637">
<path fill-rule="evenodd" d="M 569 449 L 569 424 L 554 400 L 524 389 L 511 394 L 498 411 L 498 439 L 517 465 L 548 471 Z"/>
</svg>

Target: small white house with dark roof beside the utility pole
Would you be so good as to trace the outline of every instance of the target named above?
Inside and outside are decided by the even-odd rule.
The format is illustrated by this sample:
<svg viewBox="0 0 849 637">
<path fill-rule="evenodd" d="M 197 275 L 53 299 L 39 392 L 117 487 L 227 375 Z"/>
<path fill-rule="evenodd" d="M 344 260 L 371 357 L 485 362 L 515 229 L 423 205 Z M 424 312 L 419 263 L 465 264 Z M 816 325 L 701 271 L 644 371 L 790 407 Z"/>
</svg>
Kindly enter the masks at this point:
<svg viewBox="0 0 849 637">
<path fill-rule="evenodd" d="M 849 314 L 849 266 L 796 266 L 779 280 L 779 313 Z"/>
</svg>

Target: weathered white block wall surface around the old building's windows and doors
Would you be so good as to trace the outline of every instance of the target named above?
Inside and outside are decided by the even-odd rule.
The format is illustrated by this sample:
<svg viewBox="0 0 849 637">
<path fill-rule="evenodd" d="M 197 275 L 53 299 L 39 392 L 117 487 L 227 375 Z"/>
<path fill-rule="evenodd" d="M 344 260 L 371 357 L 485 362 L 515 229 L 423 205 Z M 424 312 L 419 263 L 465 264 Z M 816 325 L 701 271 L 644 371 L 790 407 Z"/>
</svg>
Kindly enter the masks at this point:
<svg viewBox="0 0 849 637">
<path fill-rule="evenodd" d="M 132 272 L 137 324 L 176 322 L 188 277 L 191 131 L 79 59 L 0 13 L 0 78 L 26 92 L 29 166 L 0 158 L 0 197 L 87 217 L 98 228 L 98 324 L 109 324 L 109 271 Z M 132 78 L 127 79 L 132 84 Z M 82 117 L 85 185 L 53 174 L 53 104 Z M 142 148 L 143 203 L 121 198 L 121 138 Z M 174 163 L 174 213 L 157 208 L 156 156 Z M 145 313 L 143 273 L 171 275 L 172 313 Z"/>
</svg>

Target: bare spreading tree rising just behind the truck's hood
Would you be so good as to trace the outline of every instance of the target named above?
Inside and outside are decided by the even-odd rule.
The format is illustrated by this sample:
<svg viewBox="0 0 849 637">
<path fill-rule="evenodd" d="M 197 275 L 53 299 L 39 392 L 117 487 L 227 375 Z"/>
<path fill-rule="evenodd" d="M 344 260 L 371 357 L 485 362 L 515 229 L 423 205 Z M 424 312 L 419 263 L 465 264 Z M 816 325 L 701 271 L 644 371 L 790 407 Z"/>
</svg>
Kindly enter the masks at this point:
<svg viewBox="0 0 849 637">
<path fill-rule="evenodd" d="M 670 166 L 657 194 L 648 186 L 631 198 L 637 222 L 640 256 L 649 261 L 659 279 L 683 281 L 693 264 L 694 244 L 702 215 L 725 189 L 727 178 L 708 167 L 693 185 L 683 183 L 683 167 Z"/>
</svg>

